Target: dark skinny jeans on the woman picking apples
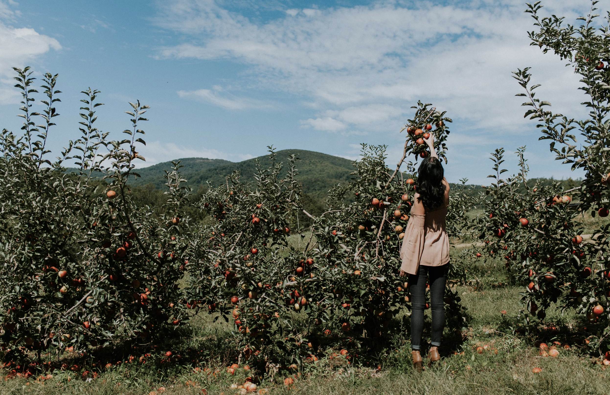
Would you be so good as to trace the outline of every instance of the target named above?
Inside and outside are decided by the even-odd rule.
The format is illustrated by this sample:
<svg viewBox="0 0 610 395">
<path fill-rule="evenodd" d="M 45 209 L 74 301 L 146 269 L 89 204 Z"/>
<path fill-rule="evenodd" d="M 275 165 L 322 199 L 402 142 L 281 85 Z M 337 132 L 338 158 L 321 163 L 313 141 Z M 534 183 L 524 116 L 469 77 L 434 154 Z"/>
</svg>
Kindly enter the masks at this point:
<svg viewBox="0 0 610 395">
<path fill-rule="evenodd" d="M 430 304 L 432 308 L 432 346 L 439 347 L 445 327 L 445 283 L 449 264 L 443 266 L 420 265 L 417 275 L 409 275 L 411 293 L 411 348 L 422 349 L 423 311 L 426 308 L 426 277 L 429 277 Z"/>
</svg>

